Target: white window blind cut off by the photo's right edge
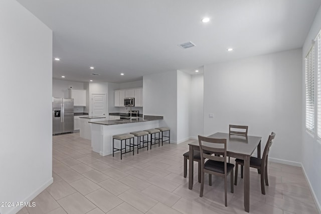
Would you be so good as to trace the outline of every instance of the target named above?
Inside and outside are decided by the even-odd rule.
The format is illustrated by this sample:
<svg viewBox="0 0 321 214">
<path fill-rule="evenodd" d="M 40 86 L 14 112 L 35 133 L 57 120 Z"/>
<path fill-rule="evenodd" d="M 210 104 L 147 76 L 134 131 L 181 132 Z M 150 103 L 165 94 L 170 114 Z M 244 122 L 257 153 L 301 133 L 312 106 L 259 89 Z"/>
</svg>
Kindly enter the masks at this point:
<svg viewBox="0 0 321 214">
<path fill-rule="evenodd" d="M 321 34 L 316 37 L 317 49 L 317 137 L 321 138 Z"/>
</svg>

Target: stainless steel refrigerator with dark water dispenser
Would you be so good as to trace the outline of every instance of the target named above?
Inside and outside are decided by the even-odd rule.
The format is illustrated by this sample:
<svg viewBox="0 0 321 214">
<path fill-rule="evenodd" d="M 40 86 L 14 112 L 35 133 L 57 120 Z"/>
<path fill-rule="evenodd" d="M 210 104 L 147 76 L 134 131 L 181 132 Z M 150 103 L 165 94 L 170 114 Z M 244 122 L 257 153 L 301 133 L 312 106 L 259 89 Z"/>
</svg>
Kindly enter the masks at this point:
<svg viewBox="0 0 321 214">
<path fill-rule="evenodd" d="M 54 98 L 52 102 L 52 134 L 74 131 L 74 99 Z"/>
</svg>

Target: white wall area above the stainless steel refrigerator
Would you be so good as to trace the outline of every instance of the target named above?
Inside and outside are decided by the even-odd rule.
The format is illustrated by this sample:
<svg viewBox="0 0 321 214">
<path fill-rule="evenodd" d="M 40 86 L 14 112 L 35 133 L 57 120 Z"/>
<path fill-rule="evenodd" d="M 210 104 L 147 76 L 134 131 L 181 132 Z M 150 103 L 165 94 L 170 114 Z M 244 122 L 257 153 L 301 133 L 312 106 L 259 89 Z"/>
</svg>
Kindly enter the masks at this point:
<svg viewBox="0 0 321 214">
<path fill-rule="evenodd" d="M 67 81 L 67 80 L 52 80 L 52 96 L 57 98 L 69 98 L 68 89 L 84 89 L 84 83 Z"/>
</svg>

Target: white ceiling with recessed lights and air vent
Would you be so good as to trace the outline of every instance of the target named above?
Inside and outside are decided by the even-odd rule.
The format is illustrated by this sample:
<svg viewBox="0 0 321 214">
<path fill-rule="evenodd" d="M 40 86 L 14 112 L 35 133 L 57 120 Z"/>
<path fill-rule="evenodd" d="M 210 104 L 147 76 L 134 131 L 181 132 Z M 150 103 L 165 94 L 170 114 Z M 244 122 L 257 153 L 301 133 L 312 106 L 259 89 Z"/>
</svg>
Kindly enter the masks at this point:
<svg viewBox="0 0 321 214">
<path fill-rule="evenodd" d="M 53 31 L 53 57 L 61 59 L 53 59 L 54 79 L 114 83 L 165 71 L 192 74 L 207 64 L 301 48 L 321 4 L 320 0 L 18 2 Z M 202 23 L 204 17 L 210 22 Z M 178 46 L 189 41 L 196 46 Z"/>
</svg>

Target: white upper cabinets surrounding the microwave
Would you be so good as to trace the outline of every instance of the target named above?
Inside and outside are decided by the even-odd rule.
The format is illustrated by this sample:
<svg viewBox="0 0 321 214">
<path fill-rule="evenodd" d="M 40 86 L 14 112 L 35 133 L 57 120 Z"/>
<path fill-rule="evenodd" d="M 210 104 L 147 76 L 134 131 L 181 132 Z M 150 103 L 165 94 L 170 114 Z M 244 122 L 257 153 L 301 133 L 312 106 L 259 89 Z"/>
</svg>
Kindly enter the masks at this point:
<svg viewBox="0 0 321 214">
<path fill-rule="evenodd" d="M 114 106 L 124 106 L 125 97 L 134 97 L 135 106 L 142 107 L 142 88 L 124 89 L 114 91 Z"/>
</svg>

